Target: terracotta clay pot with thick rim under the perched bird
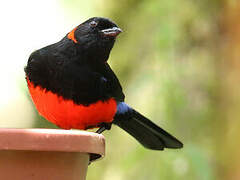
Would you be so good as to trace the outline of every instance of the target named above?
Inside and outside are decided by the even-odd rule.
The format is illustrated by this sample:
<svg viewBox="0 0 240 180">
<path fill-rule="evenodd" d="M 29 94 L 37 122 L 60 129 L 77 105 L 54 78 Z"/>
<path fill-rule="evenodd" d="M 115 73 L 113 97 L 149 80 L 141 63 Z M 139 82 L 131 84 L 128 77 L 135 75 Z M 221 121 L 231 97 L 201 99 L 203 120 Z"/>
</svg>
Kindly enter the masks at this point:
<svg viewBox="0 0 240 180">
<path fill-rule="evenodd" d="M 92 132 L 0 129 L 4 180 L 85 180 L 88 164 L 104 153 L 104 137 Z"/>
</svg>

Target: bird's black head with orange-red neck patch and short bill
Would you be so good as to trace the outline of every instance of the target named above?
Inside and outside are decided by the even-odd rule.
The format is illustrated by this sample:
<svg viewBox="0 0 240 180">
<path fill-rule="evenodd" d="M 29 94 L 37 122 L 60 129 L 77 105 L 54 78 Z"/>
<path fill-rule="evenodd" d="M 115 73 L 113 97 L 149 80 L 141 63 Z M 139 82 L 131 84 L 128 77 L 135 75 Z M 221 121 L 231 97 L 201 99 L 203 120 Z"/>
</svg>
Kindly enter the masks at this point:
<svg viewBox="0 0 240 180">
<path fill-rule="evenodd" d="M 88 56 L 98 56 L 107 61 L 115 39 L 121 32 L 111 20 L 93 17 L 73 29 L 67 37 L 87 52 Z"/>
</svg>

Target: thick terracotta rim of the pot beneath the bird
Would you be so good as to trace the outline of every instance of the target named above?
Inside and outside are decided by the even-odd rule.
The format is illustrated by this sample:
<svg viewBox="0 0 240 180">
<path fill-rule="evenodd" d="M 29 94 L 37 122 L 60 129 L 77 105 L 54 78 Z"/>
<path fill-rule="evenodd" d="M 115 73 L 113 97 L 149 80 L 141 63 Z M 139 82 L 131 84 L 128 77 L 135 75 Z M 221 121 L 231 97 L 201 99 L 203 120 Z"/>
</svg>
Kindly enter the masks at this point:
<svg viewBox="0 0 240 180">
<path fill-rule="evenodd" d="M 93 161 L 105 155 L 105 138 L 80 130 L 0 128 L 0 150 L 82 152 Z"/>
</svg>

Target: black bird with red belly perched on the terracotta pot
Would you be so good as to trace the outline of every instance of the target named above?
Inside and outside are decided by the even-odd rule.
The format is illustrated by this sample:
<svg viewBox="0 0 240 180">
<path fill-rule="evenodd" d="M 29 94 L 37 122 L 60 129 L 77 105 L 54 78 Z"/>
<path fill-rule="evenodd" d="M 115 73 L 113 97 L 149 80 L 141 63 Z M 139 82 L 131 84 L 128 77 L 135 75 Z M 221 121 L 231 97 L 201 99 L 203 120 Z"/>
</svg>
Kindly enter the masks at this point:
<svg viewBox="0 0 240 180">
<path fill-rule="evenodd" d="M 36 109 L 63 129 L 98 127 L 102 133 L 115 124 L 146 148 L 182 148 L 179 140 L 124 102 L 107 63 L 121 32 L 113 21 L 93 17 L 59 42 L 33 52 L 25 73 Z"/>
</svg>

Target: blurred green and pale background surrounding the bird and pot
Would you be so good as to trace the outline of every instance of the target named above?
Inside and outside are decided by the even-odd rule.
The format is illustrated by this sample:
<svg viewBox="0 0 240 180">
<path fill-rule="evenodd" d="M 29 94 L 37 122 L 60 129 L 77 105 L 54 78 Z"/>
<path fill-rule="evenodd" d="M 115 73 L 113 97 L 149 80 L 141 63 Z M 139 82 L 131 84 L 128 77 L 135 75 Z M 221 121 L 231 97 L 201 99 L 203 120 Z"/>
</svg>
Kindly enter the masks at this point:
<svg viewBox="0 0 240 180">
<path fill-rule="evenodd" d="M 124 31 L 109 63 L 126 102 L 184 148 L 150 151 L 113 127 L 104 133 L 106 157 L 89 167 L 87 179 L 240 179 L 238 0 L 43 0 L 16 9 L 11 3 L 17 2 L 1 14 L 0 127 L 54 127 L 32 107 L 24 64 L 33 50 L 104 16 Z"/>
</svg>

